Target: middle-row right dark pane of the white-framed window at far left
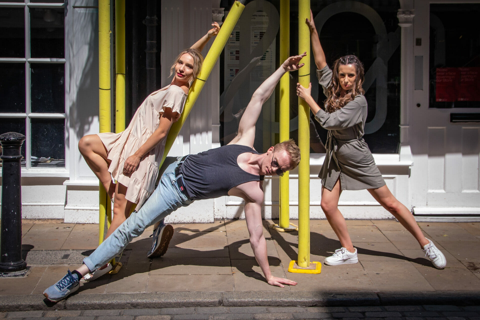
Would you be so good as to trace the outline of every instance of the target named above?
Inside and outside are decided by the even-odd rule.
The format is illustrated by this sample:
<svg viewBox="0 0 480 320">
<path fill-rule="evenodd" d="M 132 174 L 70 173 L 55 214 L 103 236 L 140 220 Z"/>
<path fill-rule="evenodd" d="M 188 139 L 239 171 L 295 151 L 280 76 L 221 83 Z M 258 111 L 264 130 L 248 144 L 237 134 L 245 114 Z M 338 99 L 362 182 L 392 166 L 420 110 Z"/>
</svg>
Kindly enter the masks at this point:
<svg viewBox="0 0 480 320">
<path fill-rule="evenodd" d="M 32 112 L 65 112 L 65 65 L 32 63 Z"/>
</svg>

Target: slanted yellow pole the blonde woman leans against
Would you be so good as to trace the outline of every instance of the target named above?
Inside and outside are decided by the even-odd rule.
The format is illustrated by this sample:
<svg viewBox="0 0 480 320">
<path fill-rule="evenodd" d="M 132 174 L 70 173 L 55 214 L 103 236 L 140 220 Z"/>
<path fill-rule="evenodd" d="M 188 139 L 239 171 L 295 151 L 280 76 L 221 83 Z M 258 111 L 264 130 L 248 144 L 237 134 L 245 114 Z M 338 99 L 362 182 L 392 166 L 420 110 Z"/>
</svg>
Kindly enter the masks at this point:
<svg viewBox="0 0 480 320">
<path fill-rule="evenodd" d="M 183 108 L 180 119 L 172 125 L 170 131 L 168 132 L 167 141 L 165 142 L 165 152 L 163 153 L 163 158 L 160 166 L 163 164 L 163 161 L 167 157 L 168 151 L 170 151 L 173 142 L 177 138 L 177 135 L 179 134 L 183 123 L 185 123 L 188 114 L 192 110 L 192 107 L 195 104 L 198 95 L 200 95 L 200 92 L 204 87 L 205 81 L 210 75 L 210 72 L 212 72 L 216 60 L 222 53 L 223 47 L 225 47 L 225 44 L 227 43 L 228 38 L 230 37 L 230 34 L 235 27 L 235 24 L 237 24 L 237 21 L 240 18 L 240 14 L 244 8 L 245 6 L 242 3 L 240 3 L 239 1 L 235 1 L 233 3 L 232 9 L 230 10 L 230 12 L 228 12 L 228 16 L 227 18 L 225 18 L 225 22 L 222 24 L 222 27 L 220 28 L 218 35 L 216 35 L 212 47 L 210 47 L 210 50 L 208 51 L 207 56 L 204 59 L 202 70 L 198 74 L 197 79 L 193 81 L 192 86 L 190 87 L 187 101 L 185 102 L 185 107 Z"/>
</svg>

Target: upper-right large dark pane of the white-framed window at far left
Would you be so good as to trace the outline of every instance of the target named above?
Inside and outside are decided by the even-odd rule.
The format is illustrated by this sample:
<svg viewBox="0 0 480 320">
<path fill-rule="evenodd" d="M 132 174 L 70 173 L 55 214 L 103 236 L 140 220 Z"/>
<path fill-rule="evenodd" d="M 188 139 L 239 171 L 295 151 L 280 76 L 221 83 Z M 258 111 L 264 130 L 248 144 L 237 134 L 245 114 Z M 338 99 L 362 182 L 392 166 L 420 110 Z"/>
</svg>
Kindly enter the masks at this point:
<svg viewBox="0 0 480 320">
<path fill-rule="evenodd" d="M 32 58 L 65 57 L 63 22 L 62 8 L 30 9 L 30 55 Z"/>
</svg>

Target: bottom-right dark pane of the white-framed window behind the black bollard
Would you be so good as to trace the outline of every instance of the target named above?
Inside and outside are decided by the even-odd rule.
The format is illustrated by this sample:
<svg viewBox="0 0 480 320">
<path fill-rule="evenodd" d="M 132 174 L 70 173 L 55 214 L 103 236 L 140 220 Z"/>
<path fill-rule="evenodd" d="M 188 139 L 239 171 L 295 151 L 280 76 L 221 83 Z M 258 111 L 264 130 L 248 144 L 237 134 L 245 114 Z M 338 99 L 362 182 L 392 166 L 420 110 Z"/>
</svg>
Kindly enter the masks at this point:
<svg viewBox="0 0 480 320">
<path fill-rule="evenodd" d="M 65 166 L 65 119 L 32 119 L 32 166 Z"/>
</svg>

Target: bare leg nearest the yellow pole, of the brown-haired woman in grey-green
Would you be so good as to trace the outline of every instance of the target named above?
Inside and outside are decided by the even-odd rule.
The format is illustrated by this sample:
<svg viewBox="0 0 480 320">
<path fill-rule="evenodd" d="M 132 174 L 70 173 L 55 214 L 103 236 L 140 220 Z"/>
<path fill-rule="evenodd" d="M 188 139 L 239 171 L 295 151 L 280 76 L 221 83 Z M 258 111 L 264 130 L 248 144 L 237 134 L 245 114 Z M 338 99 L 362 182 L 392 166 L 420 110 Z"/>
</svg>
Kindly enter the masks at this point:
<svg viewBox="0 0 480 320">
<path fill-rule="evenodd" d="M 322 201 L 320 205 L 327 217 L 328 223 L 333 231 L 335 231 L 338 240 L 340 240 L 342 247 L 350 252 L 354 252 L 355 249 L 353 248 L 352 240 L 348 234 L 347 223 L 340 210 L 338 210 L 338 200 L 342 193 L 340 187 L 340 179 L 336 181 L 332 191 L 322 187 Z"/>
</svg>

